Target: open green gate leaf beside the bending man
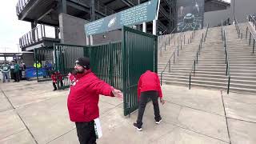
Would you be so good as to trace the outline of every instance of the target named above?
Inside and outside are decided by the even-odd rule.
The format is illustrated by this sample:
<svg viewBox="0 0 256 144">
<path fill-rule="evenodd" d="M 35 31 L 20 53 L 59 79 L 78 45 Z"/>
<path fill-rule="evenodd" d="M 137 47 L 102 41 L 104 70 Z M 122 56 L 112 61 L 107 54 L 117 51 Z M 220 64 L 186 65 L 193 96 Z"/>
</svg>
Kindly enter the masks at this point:
<svg viewBox="0 0 256 144">
<path fill-rule="evenodd" d="M 124 115 L 138 109 L 138 79 L 146 72 L 158 72 L 158 39 L 124 26 L 122 29 L 122 75 Z"/>
</svg>

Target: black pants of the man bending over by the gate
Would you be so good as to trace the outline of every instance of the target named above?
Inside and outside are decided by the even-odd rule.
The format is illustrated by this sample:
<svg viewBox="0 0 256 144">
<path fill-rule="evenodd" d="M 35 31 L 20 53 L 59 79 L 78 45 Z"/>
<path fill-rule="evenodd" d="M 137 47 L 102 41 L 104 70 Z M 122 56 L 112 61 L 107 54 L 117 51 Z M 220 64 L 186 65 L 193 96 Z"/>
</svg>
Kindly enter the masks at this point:
<svg viewBox="0 0 256 144">
<path fill-rule="evenodd" d="M 158 105 L 158 91 L 145 91 L 141 93 L 141 97 L 139 98 L 139 106 L 138 106 L 138 119 L 137 126 L 142 127 L 142 118 L 144 114 L 144 110 L 146 107 L 146 102 L 150 98 L 153 102 L 154 106 L 154 119 L 155 121 L 159 121 L 161 119 L 159 105 Z"/>
</svg>

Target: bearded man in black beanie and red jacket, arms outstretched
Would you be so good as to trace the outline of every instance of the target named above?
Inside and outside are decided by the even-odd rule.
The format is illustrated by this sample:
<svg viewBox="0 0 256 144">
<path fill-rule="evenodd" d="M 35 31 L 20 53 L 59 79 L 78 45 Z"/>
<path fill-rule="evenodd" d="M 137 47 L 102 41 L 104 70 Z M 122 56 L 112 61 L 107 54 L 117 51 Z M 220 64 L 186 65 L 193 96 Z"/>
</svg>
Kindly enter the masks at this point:
<svg viewBox="0 0 256 144">
<path fill-rule="evenodd" d="M 89 58 L 78 58 L 74 74 L 70 74 L 67 107 L 75 122 L 80 144 L 96 143 L 94 119 L 99 117 L 99 94 L 122 98 L 122 92 L 103 82 L 90 70 Z"/>
</svg>

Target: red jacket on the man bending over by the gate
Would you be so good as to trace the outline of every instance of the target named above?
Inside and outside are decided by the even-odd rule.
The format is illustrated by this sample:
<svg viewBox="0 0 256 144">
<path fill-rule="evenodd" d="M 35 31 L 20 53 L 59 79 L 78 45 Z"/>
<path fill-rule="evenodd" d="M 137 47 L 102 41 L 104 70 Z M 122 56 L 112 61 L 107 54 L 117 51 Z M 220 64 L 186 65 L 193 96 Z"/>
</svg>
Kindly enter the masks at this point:
<svg viewBox="0 0 256 144">
<path fill-rule="evenodd" d="M 157 90 L 158 96 L 162 98 L 162 90 L 158 74 L 150 70 L 146 70 L 138 80 L 138 99 L 141 96 L 141 92 L 150 90 Z"/>
</svg>

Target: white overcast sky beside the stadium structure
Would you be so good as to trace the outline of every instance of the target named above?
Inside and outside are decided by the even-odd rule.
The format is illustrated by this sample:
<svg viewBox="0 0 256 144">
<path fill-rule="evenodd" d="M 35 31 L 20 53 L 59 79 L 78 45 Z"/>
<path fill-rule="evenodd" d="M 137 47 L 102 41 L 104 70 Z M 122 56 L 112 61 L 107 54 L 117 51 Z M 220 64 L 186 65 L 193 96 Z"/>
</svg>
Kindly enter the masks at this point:
<svg viewBox="0 0 256 144">
<path fill-rule="evenodd" d="M 0 53 L 18 52 L 18 38 L 30 31 L 30 22 L 18 20 L 15 9 L 17 2 L 6 0 L 0 5 Z"/>
</svg>

